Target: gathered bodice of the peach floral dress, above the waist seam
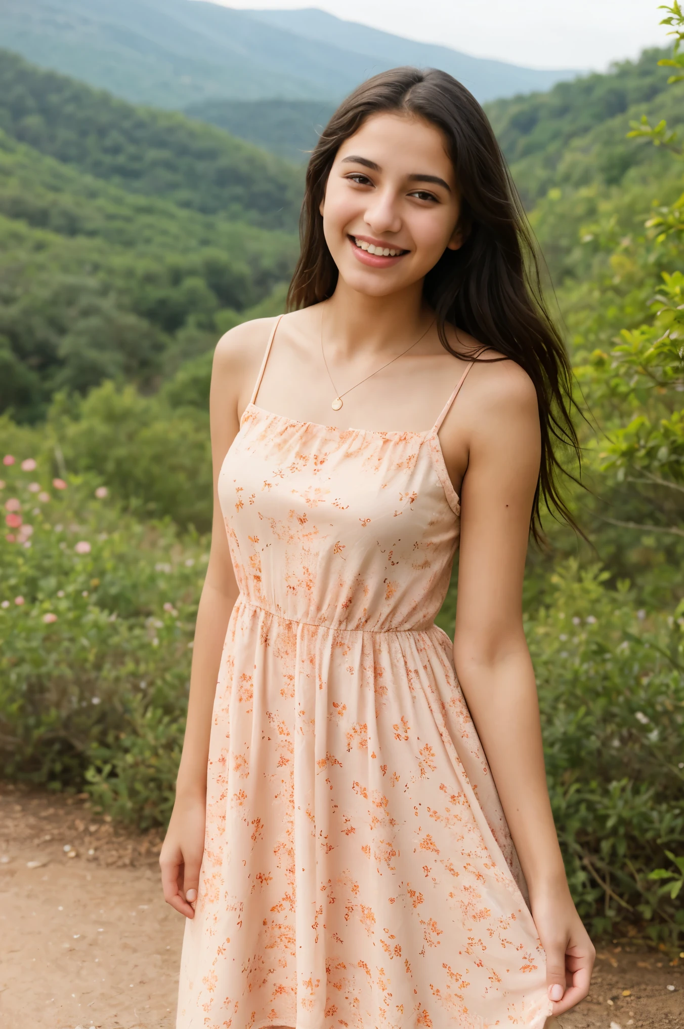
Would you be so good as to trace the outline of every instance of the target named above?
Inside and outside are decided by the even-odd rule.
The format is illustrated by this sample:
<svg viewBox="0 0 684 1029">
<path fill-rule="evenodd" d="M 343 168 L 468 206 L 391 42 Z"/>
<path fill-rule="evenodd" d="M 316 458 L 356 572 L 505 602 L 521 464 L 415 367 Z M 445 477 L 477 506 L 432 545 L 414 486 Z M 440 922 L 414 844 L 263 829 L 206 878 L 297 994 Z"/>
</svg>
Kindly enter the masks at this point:
<svg viewBox="0 0 684 1029">
<path fill-rule="evenodd" d="M 436 429 L 337 429 L 250 404 L 218 493 L 249 603 L 346 630 L 433 623 L 459 538 Z"/>
</svg>

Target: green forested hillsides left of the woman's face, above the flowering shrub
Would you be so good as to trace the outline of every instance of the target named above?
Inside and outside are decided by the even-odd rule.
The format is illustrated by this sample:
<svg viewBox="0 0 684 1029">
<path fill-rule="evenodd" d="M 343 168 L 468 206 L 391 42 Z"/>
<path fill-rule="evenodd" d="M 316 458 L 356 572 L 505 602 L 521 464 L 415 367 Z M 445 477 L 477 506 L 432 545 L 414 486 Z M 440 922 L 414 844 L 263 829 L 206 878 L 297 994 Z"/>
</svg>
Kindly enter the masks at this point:
<svg viewBox="0 0 684 1029">
<path fill-rule="evenodd" d="M 0 410 L 153 389 L 289 277 L 292 166 L 13 55 L 0 81 Z"/>
</svg>

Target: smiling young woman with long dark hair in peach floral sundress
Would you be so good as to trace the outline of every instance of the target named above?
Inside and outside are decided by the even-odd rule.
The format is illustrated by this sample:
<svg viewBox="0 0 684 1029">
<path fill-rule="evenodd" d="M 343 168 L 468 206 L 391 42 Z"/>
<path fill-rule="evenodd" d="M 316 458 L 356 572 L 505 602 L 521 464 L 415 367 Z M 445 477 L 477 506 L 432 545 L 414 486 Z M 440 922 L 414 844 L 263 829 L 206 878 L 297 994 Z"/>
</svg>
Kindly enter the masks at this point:
<svg viewBox="0 0 684 1029">
<path fill-rule="evenodd" d="M 593 949 L 521 584 L 568 368 L 489 122 L 363 83 L 312 155 L 291 313 L 220 341 L 215 519 L 165 895 L 179 1029 L 542 1029 Z M 460 540 L 454 645 L 434 625 Z M 457 679 L 458 674 L 458 679 Z M 218 682 L 218 685 L 217 685 Z"/>
</svg>

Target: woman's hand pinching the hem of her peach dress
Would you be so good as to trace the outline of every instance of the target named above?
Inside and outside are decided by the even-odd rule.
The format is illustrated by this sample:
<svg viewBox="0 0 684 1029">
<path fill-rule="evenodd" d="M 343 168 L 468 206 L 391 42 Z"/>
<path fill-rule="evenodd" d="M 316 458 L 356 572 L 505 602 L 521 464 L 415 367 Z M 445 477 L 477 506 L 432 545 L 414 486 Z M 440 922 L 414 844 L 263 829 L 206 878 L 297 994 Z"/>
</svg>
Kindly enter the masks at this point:
<svg viewBox="0 0 684 1029">
<path fill-rule="evenodd" d="M 553 1015 L 564 1015 L 589 992 L 597 952 L 567 886 L 531 897 L 532 915 L 546 952 L 546 987 Z"/>
</svg>

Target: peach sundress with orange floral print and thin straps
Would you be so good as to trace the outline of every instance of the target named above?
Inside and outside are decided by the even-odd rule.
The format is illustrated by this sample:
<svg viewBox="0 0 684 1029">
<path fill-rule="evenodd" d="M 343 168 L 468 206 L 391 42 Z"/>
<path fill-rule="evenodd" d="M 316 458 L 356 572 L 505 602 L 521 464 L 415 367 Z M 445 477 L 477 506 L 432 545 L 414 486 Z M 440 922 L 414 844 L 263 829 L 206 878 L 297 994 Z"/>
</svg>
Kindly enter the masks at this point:
<svg viewBox="0 0 684 1029">
<path fill-rule="evenodd" d="M 240 597 L 177 1027 L 542 1029 L 544 952 L 434 625 L 465 375 L 428 432 L 294 421 L 254 402 L 274 335 L 218 482 Z"/>
</svg>

